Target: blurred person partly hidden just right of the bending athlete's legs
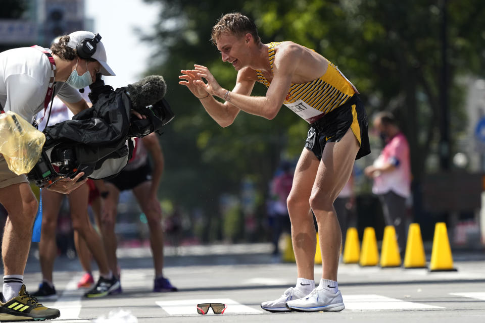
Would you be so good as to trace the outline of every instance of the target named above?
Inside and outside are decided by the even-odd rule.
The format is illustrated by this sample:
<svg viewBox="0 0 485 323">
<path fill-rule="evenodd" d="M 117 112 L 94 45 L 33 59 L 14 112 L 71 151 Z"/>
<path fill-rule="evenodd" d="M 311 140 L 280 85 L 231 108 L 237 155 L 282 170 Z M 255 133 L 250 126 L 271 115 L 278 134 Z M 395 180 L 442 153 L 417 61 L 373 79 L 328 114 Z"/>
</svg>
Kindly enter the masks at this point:
<svg viewBox="0 0 485 323">
<path fill-rule="evenodd" d="M 347 184 L 345 184 L 344 188 L 333 202 L 333 207 L 335 207 L 335 212 L 337 213 L 338 223 L 340 224 L 340 229 L 342 230 L 342 247 L 345 246 L 347 229 L 351 226 L 355 226 L 355 224 L 351 224 L 352 221 L 355 220 L 353 219 L 354 205 L 354 172 L 352 171 Z"/>
</svg>

